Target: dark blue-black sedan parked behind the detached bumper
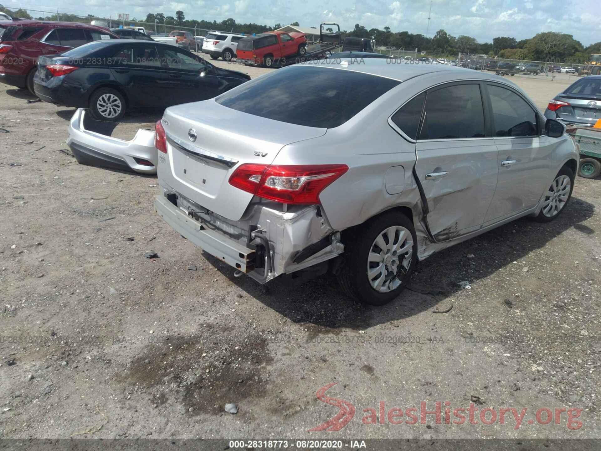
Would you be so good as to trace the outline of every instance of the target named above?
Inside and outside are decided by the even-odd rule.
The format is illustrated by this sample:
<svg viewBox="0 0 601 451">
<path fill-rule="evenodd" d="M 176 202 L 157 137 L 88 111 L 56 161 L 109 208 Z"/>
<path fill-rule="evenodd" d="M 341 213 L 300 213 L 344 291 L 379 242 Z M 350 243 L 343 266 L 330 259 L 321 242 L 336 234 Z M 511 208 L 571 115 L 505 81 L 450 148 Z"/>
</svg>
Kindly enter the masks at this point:
<svg viewBox="0 0 601 451">
<path fill-rule="evenodd" d="M 126 109 L 211 99 L 249 79 L 169 44 L 115 39 L 38 58 L 34 90 L 44 102 L 118 121 Z"/>
</svg>

